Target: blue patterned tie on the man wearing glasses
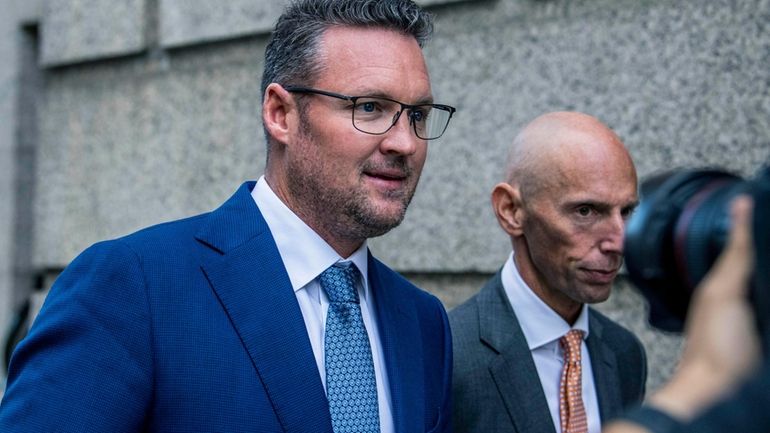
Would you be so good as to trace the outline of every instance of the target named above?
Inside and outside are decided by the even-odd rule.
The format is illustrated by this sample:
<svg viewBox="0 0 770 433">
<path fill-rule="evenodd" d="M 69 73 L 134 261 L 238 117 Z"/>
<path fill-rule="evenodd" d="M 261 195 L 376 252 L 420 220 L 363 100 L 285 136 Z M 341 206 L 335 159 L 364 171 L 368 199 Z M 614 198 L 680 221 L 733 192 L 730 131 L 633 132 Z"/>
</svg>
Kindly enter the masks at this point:
<svg viewBox="0 0 770 433">
<path fill-rule="evenodd" d="M 326 316 L 326 394 L 334 433 L 380 431 L 377 382 L 352 263 L 337 263 L 321 273 L 329 296 Z"/>
</svg>

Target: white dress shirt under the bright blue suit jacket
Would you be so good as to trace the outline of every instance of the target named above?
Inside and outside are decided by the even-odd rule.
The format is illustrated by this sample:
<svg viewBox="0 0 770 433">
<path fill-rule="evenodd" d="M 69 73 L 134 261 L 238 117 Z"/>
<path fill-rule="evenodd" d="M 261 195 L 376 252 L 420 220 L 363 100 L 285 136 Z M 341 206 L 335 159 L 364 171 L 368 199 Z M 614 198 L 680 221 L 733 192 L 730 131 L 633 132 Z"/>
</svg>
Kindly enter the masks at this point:
<svg viewBox="0 0 770 433">
<path fill-rule="evenodd" d="M 390 388 L 385 371 L 385 356 L 377 330 L 376 309 L 371 302 L 366 242 L 350 257 L 340 257 L 326 241 L 278 198 L 270 189 L 264 176 L 257 181 L 251 191 L 251 196 L 262 212 L 267 226 L 270 227 L 283 265 L 289 274 L 291 286 L 297 296 L 300 310 L 302 310 L 302 317 L 305 319 L 305 327 L 310 337 L 310 344 L 313 347 L 313 355 L 315 355 L 324 390 L 326 389 L 324 333 L 326 314 L 329 310 L 329 298 L 326 292 L 321 289 L 318 277 L 321 272 L 337 262 L 353 262 L 360 271 L 362 278 L 356 283 L 356 288 L 361 302 L 361 315 L 372 347 L 374 374 L 377 380 L 380 431 L 394 432 Z M 297 368 L 306 368 L 306 366 L 297 366 Z"/>
</svg>

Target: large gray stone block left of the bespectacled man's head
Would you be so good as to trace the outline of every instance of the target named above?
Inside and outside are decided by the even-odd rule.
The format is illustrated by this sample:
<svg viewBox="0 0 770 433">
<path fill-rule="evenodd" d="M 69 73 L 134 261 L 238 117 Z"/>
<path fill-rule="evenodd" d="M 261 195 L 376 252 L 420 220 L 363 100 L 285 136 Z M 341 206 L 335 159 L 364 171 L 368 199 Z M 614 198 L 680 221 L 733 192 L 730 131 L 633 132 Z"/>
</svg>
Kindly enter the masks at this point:
<svg viewBox="0 0 770 433">
<path fill-rule="evenodd" d="M 41 107 L 36 261 L 208 211 L 264 165 L 258 44 L 69 68 Z"/>
</svg>

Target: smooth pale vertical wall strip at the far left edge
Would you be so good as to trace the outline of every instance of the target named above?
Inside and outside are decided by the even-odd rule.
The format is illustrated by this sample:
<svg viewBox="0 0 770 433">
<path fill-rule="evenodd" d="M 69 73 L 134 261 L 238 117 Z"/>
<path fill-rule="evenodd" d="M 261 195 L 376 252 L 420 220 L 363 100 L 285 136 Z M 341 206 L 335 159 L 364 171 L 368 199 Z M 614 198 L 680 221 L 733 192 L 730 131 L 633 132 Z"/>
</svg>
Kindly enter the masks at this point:
<svg viewBox="0 0 770 433">
<path fill-rule="evenodd" d="M 24 134 L 36 122 L 31 96 L 40 74 L 30 26 L 41 16 L 38 0 L 4 0 L 0 14 L 0 341 L 12 311 L 33 284 L 32 195 L 36 137 Z M 24 79 L 25 75 L 28 75 Z M 0 370 L 0 392 L 3 389 Z"/>
</svg>

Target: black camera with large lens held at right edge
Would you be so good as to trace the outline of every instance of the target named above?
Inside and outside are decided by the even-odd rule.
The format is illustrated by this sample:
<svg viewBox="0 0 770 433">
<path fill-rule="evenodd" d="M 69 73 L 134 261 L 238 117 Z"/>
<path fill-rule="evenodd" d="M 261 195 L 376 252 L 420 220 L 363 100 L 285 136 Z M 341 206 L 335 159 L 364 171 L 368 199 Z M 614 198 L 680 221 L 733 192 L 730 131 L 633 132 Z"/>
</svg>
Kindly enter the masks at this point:
<svg viewBox="0 0 770 433">
<path fill-rule="evenodd" d="M 650 304 L 652 326 L 682 331 L 693 290 L 725 246 L 730 202 L 739 194 L 754 200 L 750 296 L 759 331 L 768 339 L 770 166 L 749 180 L 722 169 L 682 169 L 642 183 L 641 202 L 626 224 L 624 255 L 631 282 Z"/>
</svg>

